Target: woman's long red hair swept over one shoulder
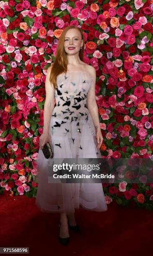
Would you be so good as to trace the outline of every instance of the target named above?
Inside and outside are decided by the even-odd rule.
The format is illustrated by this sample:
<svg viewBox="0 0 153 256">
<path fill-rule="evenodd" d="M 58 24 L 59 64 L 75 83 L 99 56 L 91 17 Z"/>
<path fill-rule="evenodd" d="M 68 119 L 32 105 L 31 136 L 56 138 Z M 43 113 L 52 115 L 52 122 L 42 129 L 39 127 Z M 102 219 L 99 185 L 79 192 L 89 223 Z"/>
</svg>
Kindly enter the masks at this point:
<svg viewBox="0 0 153 256">
<path fill-rule="evenodd" d="M 83 32 L 80 28 L 78 28 L 76 26 L 67 26 L 66 28 L 64 28 L 64 30 L 61 33 L 61 36 L 59 38 L 59 42 L 57 45 L 57 49 L 56 49 L 55 61 L 51 66 L 51 73 L 50 73 L 49 81 L 51 82 L 51 84 L 53 84 L 54 89 L 57 88 L 57 79 L 56 79 L 57 76 L 63 72 L 66 73 L 66 71 L 67 71 L 67 56 L 66 56 L 66 52 L 64 50 L 64 39 L 65 39 L 66 32 L 71 28 L 77 29 L 81 34 L 81 38 L 83 39 L 83 46 L 82 46 L 82 49 L 80 49 L 80 51 L 79 51 L 79 58 L 83 61 L 83 56 L 84 56 Z"/>
</svg>

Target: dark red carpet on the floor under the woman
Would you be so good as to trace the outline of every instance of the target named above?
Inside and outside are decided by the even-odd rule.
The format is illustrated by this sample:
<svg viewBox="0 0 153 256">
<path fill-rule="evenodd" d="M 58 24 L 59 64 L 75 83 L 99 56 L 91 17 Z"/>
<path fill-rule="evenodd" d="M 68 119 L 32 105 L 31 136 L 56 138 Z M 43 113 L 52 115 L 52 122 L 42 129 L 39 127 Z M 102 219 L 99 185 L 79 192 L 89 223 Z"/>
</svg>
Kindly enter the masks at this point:
<svg viewBox="0 0 153 256">
<path fill-rule="evenodd" d="M 0 195 L 0 247 L 29 247 L 30 255 L 141 256 L 152 251 L 153 212 L 108 205 L 106 212 L 76 210 L 82 233 L 57 240 L 59 214 L 44 213 L 35 198 Z"/>
</svg>

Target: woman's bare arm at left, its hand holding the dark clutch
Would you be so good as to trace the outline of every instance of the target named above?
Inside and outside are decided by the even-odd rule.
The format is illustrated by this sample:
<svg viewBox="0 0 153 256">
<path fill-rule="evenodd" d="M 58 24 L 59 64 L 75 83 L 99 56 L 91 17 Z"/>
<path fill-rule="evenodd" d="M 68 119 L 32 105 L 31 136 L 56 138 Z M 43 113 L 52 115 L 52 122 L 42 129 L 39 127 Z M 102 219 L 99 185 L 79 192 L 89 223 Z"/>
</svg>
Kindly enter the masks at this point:
<svg viewBox="0 0 153 256">
<path fill-rule="evenodd" d="M 40 148 L 43 148 L 43 146 L 47 141 L 51 143 L 49 126 L 51 122 L 51 115 L 54 110 L 54 87 L 49 81 L 50 73 L 51 73 L 51 67 L 49 67 L 47 70 L 46 81 L 45 81 L 46 99 L 45 99 L 45 104 L 43 109 L 43 134 L 41 134 L 39 138 Z"/>
</svg>

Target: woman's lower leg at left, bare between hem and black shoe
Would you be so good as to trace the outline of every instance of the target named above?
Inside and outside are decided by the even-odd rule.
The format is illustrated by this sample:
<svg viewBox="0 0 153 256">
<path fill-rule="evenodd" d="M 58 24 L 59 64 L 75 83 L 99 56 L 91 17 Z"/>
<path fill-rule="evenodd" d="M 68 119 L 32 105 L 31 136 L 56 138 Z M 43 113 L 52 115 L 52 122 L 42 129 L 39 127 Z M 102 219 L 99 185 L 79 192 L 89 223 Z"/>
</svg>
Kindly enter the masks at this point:
<svg viewBox="0 0 153 256">
<path fill-rule="evenodd" d="M 69 237 L 69 227 L 67 222 L 67 216 L 65 212 L 60 214 L 60 231 L 59 236 L 61 238 Z"/>
</svg>

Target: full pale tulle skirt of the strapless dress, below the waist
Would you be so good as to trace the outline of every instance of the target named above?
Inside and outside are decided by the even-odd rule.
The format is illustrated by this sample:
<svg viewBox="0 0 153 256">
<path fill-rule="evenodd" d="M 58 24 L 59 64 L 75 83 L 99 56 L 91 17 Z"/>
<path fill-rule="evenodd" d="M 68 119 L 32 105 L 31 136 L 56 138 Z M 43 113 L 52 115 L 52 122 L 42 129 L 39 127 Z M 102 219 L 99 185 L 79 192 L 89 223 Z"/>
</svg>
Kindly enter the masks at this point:
<svg viewBox="0 0 153 256">
<path fill-rule="evenodd" d="M 87 210 L 106 211 L 107 204 L 101 183 L 48 182 L 48 166 L 54 159 L 101 158 L 101 153 L 97 150 L 96 131 L 90 114 L 88 123 L 82 123 L 81 133 L 78 131 L 76 122 L 69 121 L 63 123 L 62 127 L 53 129 L 55 122 L 58 122 L 57 118 L 52 117 L 50 135 L 54 158 L 46 159 L 42 150 L 38 151 L 36 205 L 44 212 L 66 212 L 67 214 L 74 213 L 80 205 Z"/>
</svg>

